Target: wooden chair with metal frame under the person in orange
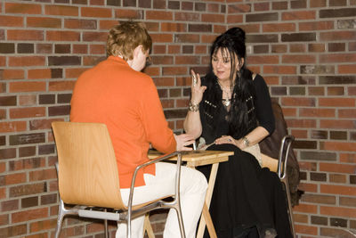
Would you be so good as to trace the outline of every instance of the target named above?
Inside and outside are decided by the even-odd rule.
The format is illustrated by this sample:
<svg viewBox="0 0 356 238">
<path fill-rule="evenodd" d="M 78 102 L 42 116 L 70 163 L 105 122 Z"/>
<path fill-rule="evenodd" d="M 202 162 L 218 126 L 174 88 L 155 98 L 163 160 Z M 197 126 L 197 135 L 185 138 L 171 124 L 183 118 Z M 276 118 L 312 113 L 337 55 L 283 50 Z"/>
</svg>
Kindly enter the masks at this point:
<svg viewBox="0 0 356 238">
<path fill-rule="evenodd" d="M 185 237 L 180 207 L 181 152 L 150 160 L 134 170 L 127 207 L 124 205 L 117 172 L 117 161 L 106 125 L 101 123 L 53 122 L 58 152 L 59 213 L 55 237 L 61 233 L 66 215 L 126 222 L 126 237 L 131 237 L 131 220 L 153 209 L 175 209 L 182 237 Z M 134 181 L 139 169 L 177 156 L 173 201 L 150 201 L 133 206 Z M 70 204 L 70 206 L 68 206 Z M 107 223 L 105 222 L 108 235 Z"/>
</svg>

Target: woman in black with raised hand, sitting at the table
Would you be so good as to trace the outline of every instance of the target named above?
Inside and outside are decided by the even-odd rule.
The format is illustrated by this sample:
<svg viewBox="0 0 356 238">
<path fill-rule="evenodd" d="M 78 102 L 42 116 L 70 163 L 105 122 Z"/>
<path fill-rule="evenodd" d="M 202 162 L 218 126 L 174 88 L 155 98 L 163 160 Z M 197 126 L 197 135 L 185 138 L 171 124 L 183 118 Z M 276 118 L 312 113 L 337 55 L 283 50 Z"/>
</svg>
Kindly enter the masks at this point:
<svg viewBox="0 0 356 238">
<path fill-rule="evenodd" d="M 191 72 L 184 130 L 199 138 L 201 149 L 235 152 L 219 166 L 210 205 L 218 237 L 293 237 L 279 177 L 259 163 L 258 143 L 274 130 L 271 97 L 245 58 L 242 29 L 215 39 L 206 77 Z M 209 166 L 200 170 L 210 173 Z"/>
</svg>

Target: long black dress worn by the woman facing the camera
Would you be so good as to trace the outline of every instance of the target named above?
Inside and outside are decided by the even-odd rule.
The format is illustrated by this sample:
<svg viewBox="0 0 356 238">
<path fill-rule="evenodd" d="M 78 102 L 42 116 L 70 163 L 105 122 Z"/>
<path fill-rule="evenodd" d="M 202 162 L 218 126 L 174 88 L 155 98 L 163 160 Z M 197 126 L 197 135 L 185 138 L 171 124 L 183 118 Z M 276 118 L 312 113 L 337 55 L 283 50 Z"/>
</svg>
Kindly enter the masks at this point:
<svg viewBox="0 0 356 238">
<path fill-rule="evenodd" d="M 259 125 L 273 130 L 271 98 L 261 76 L 256 76 L 254 86 L 258 98 L 255 110 Z M 209 102 L 205 102 L 203 97 L 202 103 Z M 200 104 L 202 136 L 206 144 L 222 135 L 229 135 L 226 109 L 221 107 L 214 115 L 219 119 L 217 127 L 212 130 L 204 108 Z M 259 115 L 263 115 L 263 119 Z M 209 209 L 218 237 L 264 237 L 266 230 L 272 234 L 277 231 L 278 237 L 293 237 L 289 229 L 285 194 L 277 174 L 268 168 L 261 168 L 253 155 L 235 145 L 213 144 L 207 150 L 234 152 L 228 161 L 219 164 Z M 208 178 L 211 166 L 198 169 Z M 207 232 L 205 237 L 208 237 Z"/>
</svg>

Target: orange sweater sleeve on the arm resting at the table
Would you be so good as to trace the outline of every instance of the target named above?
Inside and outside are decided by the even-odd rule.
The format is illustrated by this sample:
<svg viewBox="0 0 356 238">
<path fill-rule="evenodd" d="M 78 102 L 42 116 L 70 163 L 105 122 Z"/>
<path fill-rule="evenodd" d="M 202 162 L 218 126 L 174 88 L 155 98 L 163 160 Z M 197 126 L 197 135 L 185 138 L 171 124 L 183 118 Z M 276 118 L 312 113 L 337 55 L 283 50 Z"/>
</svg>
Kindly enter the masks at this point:
<svg viewBox="0 0 356 238">
<path fill-rule="evenodd" d="M 142 123 L 150 144 L 159 152 L 174 152 L 176 149 L 174 133 L 168 127 L 162 104 L 159 101 L 157 88 L 151 78 L 143 92 L 141 110 Z"/>
</svg>

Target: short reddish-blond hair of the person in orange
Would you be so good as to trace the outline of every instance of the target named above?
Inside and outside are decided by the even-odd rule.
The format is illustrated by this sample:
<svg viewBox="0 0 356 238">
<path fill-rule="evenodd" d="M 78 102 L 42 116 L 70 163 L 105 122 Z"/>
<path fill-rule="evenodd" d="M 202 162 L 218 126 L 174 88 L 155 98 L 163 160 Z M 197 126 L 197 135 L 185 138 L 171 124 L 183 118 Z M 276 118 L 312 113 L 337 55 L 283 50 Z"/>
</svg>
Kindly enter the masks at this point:
<svg viewBox="0 0 356 238">
<path fill-rule="evenodd" d="M 106 43 L 108 57 L 122 56 L 125 61 L 134 59 L 134 49 L 142 45 L 143 51 L 152 47 L 152 39 L 142 22 L 122 21 L 109 30 Z"/>
</svg>

